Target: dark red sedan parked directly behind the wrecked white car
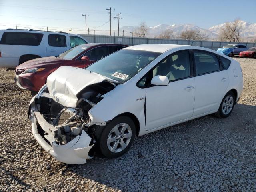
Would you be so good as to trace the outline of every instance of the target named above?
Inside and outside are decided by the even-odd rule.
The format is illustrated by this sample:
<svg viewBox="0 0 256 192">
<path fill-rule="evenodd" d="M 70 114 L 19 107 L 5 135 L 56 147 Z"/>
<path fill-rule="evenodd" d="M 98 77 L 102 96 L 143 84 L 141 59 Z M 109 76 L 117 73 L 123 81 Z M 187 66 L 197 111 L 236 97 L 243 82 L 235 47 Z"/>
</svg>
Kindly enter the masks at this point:
<svg viewBox="0 0 256 192">
<path fill-rule="evenodd" d="M 76 46 L 59 56 L 33 59 L 16 67 L 17 85 L 38 92 L 46 84 L 47 77 L 60 66 L 84 68 L 101 58 L 127 47 L 121 44 L 88 43 Z"/>
</svg>

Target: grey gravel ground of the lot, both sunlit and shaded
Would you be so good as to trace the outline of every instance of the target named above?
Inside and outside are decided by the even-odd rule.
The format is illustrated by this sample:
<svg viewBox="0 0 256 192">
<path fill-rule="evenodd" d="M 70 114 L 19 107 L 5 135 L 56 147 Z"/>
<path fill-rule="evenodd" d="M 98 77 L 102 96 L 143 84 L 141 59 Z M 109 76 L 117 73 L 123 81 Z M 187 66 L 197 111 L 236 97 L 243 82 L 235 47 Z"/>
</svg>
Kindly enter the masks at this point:
<svg viewBox="0 0 256 192">
<path fill-rule="evenodd" d="M 0 69 L 0 191 L 256 191 L 256 60 L 235 58 L 244 91 L 212 115 L 136 138 L 117 159 L 60 163 L 31 137 L 30 92 Z"/>
</svg>

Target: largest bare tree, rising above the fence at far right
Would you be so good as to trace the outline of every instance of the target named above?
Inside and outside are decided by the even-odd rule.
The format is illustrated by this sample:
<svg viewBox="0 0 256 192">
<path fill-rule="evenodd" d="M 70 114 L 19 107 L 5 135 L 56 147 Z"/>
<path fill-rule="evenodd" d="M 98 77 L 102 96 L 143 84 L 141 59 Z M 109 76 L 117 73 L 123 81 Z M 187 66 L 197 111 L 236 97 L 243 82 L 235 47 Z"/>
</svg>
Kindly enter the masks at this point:
<svg viewBox="0 0 256 192">
<path fill-rule="evenodd" d="M 230 42 L 239 42 L 241 40 L 241 20 L 236 19 L 234 22 L 227 22 L 220 28 L 220 37 Z"/>
</svg>

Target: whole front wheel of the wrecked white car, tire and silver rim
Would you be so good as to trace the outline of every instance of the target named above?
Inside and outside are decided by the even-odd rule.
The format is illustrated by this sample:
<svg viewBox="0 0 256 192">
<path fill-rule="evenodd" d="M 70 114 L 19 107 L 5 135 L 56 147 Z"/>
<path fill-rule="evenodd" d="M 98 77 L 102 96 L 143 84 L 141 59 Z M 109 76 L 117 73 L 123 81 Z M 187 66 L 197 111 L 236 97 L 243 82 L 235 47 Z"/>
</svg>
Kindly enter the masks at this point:
<svg viewBox="0 0 256 192">
<path fill-rule="evenodd" d="M 103 128 L 99 147 L 107 158 L 116 158 L 127 152 L 135 137 L 135 124 L 127 116 L 114 118 Z"/>
</svg>

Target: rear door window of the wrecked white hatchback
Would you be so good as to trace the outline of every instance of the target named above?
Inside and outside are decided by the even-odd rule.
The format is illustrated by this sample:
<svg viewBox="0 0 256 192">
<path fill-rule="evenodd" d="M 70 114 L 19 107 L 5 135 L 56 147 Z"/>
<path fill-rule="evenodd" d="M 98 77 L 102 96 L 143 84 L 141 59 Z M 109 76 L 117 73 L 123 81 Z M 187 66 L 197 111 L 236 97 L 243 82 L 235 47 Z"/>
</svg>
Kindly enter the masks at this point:
<svg viewBox="0 0 256 192">
<path fill-rule="evenodd" d="M 196 75 L 220 70 L 219 60 L 215 54 L 209 52 L 194 51 Z"/>
</svg>

